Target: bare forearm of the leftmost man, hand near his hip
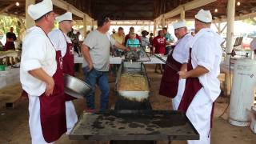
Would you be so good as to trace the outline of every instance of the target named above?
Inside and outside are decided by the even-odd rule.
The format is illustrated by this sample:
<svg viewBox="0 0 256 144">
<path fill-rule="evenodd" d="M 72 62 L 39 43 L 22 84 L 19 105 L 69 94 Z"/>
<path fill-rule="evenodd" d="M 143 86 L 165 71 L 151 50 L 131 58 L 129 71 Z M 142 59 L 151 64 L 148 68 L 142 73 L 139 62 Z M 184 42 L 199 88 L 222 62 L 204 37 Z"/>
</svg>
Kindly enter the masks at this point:
<svg viewBox="0 0 256 144">
<path fill-rule="evenodd" d="M 45 70 L 42 70 L 42 68 L 30 70 L 29 74 L 34 78 L 40 79 L 42 82 L 46 82 L 47 84 L 50 83 L 50 80 L 52 79 L 49 74 L 46 74 Z"/>
</svg>

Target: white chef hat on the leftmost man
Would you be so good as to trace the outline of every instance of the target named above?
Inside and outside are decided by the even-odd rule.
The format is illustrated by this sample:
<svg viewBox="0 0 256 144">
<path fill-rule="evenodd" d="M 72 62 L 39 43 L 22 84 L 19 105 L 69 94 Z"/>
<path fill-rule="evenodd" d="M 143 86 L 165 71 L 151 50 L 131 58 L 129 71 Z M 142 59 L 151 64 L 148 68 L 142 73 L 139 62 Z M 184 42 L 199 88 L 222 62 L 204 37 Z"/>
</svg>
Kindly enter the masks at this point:
<svg viewBox="0 0 256 144">
<path fill-rule="evenodd" d="M 37 4 L 30 5 L 27 10 L 30 17 L 34 20 L 41 18 L 50 11 L 53 11 L 53 2 L 51 2 L 51 0 L 43 0 Z"/>
</svg>

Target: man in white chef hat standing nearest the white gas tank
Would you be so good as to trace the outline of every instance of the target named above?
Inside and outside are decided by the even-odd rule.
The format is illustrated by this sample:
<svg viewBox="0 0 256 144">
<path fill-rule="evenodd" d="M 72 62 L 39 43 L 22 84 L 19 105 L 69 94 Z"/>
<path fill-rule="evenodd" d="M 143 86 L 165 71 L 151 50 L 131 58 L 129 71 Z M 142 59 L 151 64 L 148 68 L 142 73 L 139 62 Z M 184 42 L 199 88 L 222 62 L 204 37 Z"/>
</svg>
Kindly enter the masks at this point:
<svg viewBox="0 0 256 144">
<path fill-rule="evenodd" d="M 199 140 L 188 141 L 189 144 L 210 143 L 214 101 L 221 92 L 218 74 L 224 39 L 210 30 L 211 22 L 210 10 L 200 10 L 195 15 L 196 34 L 190 42 L 190 58 L 183 65 L 186 69 L 179 72 L 180 78 L 186 79 L 186 87 L 178 110 L 186 112 L 200 134 Z"/>
</svg>

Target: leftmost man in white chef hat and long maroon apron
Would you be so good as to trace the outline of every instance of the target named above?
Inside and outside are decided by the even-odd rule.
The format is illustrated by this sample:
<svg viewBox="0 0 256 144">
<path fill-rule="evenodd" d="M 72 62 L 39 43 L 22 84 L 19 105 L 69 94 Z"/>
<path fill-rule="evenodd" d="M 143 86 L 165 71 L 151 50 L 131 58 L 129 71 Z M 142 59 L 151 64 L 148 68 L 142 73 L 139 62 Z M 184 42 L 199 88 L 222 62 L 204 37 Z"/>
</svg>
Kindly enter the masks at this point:
<svg viewBox="0 0 256 144">
<path fill-rule="evenodd" d="M 20 79 L 29 98 L 32 143 L 58 140 L 66 132 L 66 110 L 62 57 L 47 34 L 54 27 L 51 0 L 28 7 L 35 25 L 26 32 L 22 45 Z"/>
</svg>

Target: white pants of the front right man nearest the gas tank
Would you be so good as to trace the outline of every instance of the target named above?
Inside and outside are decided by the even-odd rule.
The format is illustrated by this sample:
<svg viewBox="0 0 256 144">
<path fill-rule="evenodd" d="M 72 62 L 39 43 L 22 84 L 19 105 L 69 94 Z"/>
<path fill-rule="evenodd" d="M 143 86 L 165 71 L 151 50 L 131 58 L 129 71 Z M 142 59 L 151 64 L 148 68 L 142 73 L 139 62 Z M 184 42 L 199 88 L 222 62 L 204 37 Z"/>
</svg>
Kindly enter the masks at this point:
<svg viewBox="0 0 256 144">
<path fill-rule="evenodd" d="M 190 119 L 194 128 L 198 130 L 200 139 L 188 141 L 188 144 L 210 144 L 210 114 L 212 106 L 213 102 L 201 88 L 186 111 L 186 116 Z"/>
</svg>

